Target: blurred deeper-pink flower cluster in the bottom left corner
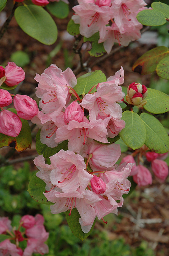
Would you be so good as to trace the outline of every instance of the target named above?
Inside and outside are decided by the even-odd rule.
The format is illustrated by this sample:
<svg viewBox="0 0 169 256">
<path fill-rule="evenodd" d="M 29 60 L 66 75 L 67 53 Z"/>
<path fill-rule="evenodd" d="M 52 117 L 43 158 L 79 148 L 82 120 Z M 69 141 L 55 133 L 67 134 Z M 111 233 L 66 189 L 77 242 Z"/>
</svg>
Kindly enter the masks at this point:
<svg viewBox="0 0 169 256">
<path fill-rule="evenodd" d="M 44 218 L 40 214 L 35 217 L 25 215 L 21 218 L 20 225 L 16 230 L 15 227 L 12 228 L 11 220 L 8 217 L 0 217 L 0 234 L 11 236 L 0 243 L 0 255 L 32 256 L 32 253 L 41 255 L 48 253 L 48 246 L 44 242 L 48 239 L 49 233 L 46 232 L 43 223 Z M 21 227 L 25 228 L 22 232 L 20 231 Z M 11 243 L 10 240 L 14 243 Z M 24 251 L 19 247 L 19 242 L 22 241 L 27 242 Z"/>
</svg>

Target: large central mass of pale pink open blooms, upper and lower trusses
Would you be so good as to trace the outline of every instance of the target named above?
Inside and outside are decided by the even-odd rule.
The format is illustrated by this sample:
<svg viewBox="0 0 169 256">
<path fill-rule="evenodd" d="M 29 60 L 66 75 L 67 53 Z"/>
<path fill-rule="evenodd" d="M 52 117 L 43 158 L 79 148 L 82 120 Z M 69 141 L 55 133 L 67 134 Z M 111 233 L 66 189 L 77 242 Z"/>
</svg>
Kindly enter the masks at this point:
<svg viewBox="0 0 169 256">
<path fill-rule="evenodd" d="M 52 148 L 68 140 L 68 150 L 50 156 L 50 165 L 42 155 L 34 159 L 39 169 L 36 175 L 46 183 L 44 195 L 54 203 L 51 212 L 69 210 L 71 215 L 76 207 L 84 233 L 96 216 L 100 220 L 108 213 L 117 213 L 117 207 L 123 204 L 122 195 L 130 190 L 127 177 L 133 164 L 115 165 L 121 149 L 107 140 L 125 126 L 117 103 L 124 97 L 119 86 L 123 76 L 121 68 L 106 82 L 93 86 L 82 99 L 73 88 L 77 80 L 70 68 L 62 72 L 52 64 L 41 76 L 35 76 L 41 111 L 31 121 L 41 129 L 41 142 Z M 94 88 L 96 92 L 92 92 Z M 76 100 L 71 100 L 72 95 Z"/>
</svg>

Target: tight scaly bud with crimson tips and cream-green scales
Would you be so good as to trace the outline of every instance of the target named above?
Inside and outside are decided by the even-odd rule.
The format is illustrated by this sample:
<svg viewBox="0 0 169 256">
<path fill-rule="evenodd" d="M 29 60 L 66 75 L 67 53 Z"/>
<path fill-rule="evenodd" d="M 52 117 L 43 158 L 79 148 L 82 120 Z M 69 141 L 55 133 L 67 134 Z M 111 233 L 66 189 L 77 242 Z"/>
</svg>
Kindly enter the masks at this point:
<svg viewBox="0 0 169 256">
<path fill-rule="evenodd" d="M 147 94 L 148 91 L 144 84 L 133 82 L 127 88 L 126 100 L 131 105 L 143 107 L 147 103 L 145 100 Z"/>
</svg>

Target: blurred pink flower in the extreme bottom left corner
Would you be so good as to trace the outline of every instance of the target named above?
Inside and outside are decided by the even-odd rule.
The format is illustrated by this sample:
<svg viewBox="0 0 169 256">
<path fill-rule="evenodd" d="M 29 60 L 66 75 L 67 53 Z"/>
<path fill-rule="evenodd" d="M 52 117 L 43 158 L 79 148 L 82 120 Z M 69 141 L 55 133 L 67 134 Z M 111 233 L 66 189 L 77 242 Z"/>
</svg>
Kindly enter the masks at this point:
<svg viewBox="0 0 169 256">
<path fill-rule="evenodd" d="M 9 239 L 6 239 L 0 243 L 0 255 L 22 256 L 23 251 L 21 248 L 17 248 L 16 244 L 12 244 Z"/>
</svg>

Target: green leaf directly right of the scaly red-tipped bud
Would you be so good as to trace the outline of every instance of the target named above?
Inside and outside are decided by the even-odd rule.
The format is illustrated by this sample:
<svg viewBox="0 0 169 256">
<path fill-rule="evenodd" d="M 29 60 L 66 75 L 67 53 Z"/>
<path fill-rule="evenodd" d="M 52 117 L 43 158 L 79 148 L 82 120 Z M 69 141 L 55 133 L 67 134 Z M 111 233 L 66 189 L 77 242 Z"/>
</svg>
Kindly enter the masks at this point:
<svg viewBox="0 0 169 256">
<path fill-rule="evenodd" d="M 161 114 L 169 110 L 169 96 L 164 92 L 147 88 L 148 95 L 145 98 L 147 103 L 144 109 L 152 114 Z"/>
</svg>

